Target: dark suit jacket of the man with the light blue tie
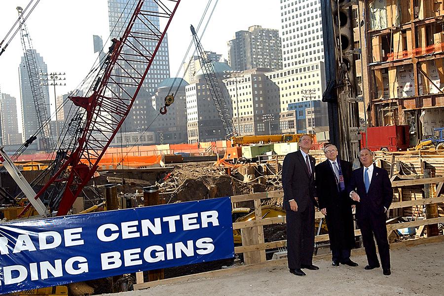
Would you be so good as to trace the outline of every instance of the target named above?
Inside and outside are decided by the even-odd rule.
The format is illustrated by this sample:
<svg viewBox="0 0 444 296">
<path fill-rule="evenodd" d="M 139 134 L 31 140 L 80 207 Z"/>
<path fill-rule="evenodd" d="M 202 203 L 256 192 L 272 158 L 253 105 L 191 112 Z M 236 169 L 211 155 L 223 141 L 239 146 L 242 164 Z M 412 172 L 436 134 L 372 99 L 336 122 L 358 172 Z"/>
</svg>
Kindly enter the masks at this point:
<svg viewBox="0 0 444 296">
<path fill-rule="evenodd" d="M 353 171 L 347 193 L 350 194 L 351 191 L 356 191 L 360 197 L 360 202 L 355 202 L 358 219 L 367 217 L 366 214 L 385 216 L 384 207 L 388 210 L 393 199 L 392 183 L 387 171 L 374 164 L 369 192 L 366 192 L 364 185 L 363 167 Z"/>
</svg>

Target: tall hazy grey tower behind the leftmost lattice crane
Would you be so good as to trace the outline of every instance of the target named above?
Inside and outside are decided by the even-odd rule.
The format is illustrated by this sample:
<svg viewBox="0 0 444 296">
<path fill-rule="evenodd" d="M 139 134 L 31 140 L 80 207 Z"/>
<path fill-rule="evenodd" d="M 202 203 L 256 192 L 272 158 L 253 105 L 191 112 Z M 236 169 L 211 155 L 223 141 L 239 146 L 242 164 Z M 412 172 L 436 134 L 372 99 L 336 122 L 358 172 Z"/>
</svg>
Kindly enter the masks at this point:
<svg viewBox="0 0 444 296">
<path fill-rule="evenodd" d="M 35 49 L 33 49 L 35 51 Z M 43 61 L 43 57 L 35 51 L 35 57 L 37 59 L 37 65 L 39 67 L 39 73 L 47 73 L 48 67 Z M 31 85 L 29 81 L 28 71 L 26 69 L 25 58 L 22 57 L 20 63 L 20 81 L 22 92 L 22 126 L 23 126 L 23 141 L 29 139 L 40 128 L 37 120 L 36 105 L 34 104 L 33 93 L 31 91 Z M 46 113 L 50 114 L 49 110 L 49 89 L 47 85 L 41 86 L 43 89 L 44 102 L 46 105 Z M 37 136 L 38 137 L 38 136 Z"/>
</svg>

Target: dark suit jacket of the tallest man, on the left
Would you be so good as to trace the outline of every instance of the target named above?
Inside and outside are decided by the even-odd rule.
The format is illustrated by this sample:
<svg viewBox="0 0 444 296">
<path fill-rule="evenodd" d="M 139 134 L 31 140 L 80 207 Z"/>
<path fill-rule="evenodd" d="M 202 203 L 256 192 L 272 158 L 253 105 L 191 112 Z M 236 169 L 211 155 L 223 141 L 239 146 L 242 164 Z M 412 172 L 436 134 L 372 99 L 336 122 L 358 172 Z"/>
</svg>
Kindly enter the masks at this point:
<svg viewBox="0 0 444 296">
<path fill-rule="evenodd" d="M 308 173 L 305 159 L 300 150 L 289 153 L 284 158 L 282 166 L 282 187 L 284 189 L 285 210 L 290 209 L 289 200 L 294 199 L 297 203 L 298 211 L 303 212 L 310 200 L 317 205 L 314 199 L 316 195 L 315 187 L 315 163 L 316 160 L 312 156 L 308 156 L 310 160 L 311 174 Z"/>
</svg>

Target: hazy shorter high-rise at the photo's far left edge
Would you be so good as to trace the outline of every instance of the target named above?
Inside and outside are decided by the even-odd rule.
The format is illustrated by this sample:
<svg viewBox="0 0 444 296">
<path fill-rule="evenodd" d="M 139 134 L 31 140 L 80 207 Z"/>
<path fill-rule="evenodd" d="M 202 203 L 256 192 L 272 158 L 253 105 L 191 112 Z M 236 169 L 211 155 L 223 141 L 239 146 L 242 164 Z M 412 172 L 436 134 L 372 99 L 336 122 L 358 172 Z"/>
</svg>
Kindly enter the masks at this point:
<svg viewBox="0 0 444 296">
<path fill-rule="evenodd" d="M 0 95 L 0 118 L 2 145 L 22 143 L 22 134 L 18 132 L 16 99 L 8 94 Z"/>
</svg>

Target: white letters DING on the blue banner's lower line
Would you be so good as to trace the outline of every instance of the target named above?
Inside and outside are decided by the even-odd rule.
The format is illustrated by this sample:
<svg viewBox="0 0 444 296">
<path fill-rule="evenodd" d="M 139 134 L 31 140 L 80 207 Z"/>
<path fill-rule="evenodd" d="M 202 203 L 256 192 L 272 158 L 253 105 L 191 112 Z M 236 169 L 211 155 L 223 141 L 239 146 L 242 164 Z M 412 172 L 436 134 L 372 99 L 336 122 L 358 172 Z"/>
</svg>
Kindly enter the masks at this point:
<svg viewBox="0 0 444 296">
<path fill-rule="evenodd" d="M 120 256 L 118 252 L 116 253 Z M 63 267 L 65 267 L 65 269 Z M 0 267 L 0 274 L 3 274 L 4 285 L 12 285 L 27 280 L 37 281 L 62 277 L 64 273 L 76 275 L 86 273 L 88 270 L 88 261 L 86 258 L 76 256 L 67 259 L 65 264 L 63 264 L 62 259 L 55 259 L 53 263 L 50 261 L 32 262 L 29 263 L 29 271 L 27 266 L 24 265 L 3 266 Z"/>
</svg>

